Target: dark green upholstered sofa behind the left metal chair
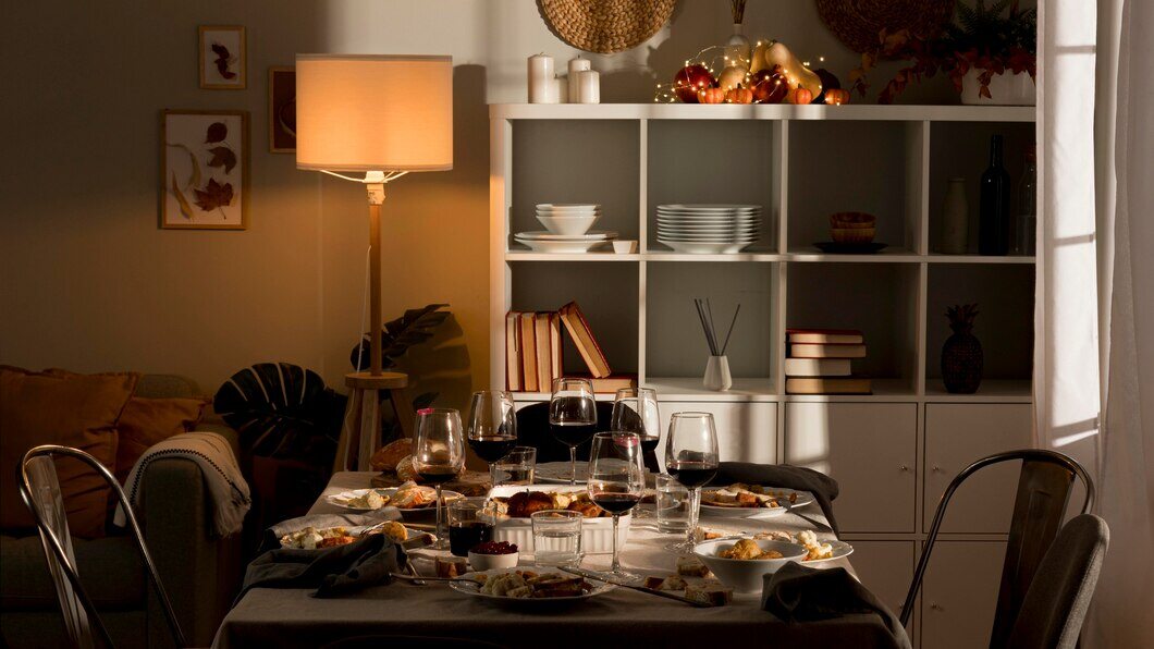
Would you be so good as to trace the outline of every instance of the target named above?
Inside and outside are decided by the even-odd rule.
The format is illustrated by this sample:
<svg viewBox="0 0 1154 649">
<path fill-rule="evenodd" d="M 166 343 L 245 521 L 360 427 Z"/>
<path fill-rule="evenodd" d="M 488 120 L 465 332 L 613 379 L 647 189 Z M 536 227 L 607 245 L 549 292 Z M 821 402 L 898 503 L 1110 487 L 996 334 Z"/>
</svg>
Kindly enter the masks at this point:
<svg viewBox="0 0 1154 649">
<path fill-rule="evenodd" d="M 145 374 L 134 396 L 197 394 L 188 379 Z M 210 416 L 196 430 L 223 435 L 238 453 L 237 433 L 222 422 Z M 192 461 L 156 460 L 143 485 L 137 514 L 149 551 L 188 642 L 208 647 L 238 591 L 240 535 L 213 538 L 211 502 L 201 470 Z M 73 543 L 81 581 L 117 646 L 172 647 L 167 620 L 132 537 L 74 538 Z M 68 644 L 38 535 L 0 536 L 0 646 L 16 649 Z"/>
</svg>

